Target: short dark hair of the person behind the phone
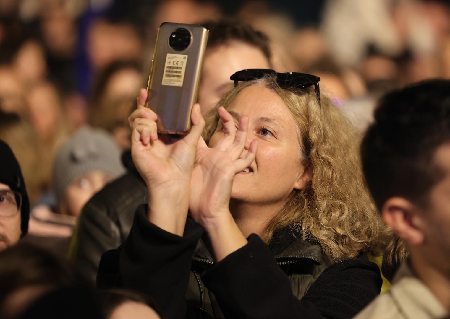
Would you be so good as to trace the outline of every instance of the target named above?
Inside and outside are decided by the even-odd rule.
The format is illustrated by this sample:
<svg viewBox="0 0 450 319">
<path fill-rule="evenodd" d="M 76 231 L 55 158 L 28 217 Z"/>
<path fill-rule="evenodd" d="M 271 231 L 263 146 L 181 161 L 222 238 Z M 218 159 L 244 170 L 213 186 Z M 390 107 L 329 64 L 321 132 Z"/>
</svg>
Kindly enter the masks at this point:
<svg viewBox="0 0 450 319">
<path fill-rule="evenodd" d="M 230 40 L 238 40 L 261 49 L 267 60 L 270 60 L 269 38 L 248 23 L 234 19 L 221 19 L 200 24 L 209 30 L 207 49 L 225 44 Z"/>
</svg>

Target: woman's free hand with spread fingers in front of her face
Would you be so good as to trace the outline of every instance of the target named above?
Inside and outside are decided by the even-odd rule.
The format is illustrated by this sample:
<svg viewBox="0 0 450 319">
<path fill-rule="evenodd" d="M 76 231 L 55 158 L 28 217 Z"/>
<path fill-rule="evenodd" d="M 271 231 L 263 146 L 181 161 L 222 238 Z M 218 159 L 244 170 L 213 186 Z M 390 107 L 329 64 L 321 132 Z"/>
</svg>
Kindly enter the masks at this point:
<svg viewBox="0 0 450 319">
<path fill-rule="evenodd" d="M 234 176 L 250 166 L 258 147 L 257 140 L 247 143 L 247 116 L 241 117 L 236 128 L 225 108 L 217 112 L 224 136 L 212 148 L 199 140 L 189 201 L 189 212 L 207 231 L 216 261 L 247 243 L 229 212 L 229 201 Z"/>
</svg>

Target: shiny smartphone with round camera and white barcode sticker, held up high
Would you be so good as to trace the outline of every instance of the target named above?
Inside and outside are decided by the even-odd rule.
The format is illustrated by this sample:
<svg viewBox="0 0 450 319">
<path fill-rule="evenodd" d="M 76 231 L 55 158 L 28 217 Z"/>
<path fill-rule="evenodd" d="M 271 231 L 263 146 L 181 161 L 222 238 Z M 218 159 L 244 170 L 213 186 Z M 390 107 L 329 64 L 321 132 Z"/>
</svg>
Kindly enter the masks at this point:
<svg viewBox="0 0 450 319">
<path fill-rule="evenodd" d="M 208 32 L 199 24 L 164 22 L 158 28 L 146 106 L 158 115 L 159 133 L 189 132 Z"/>
</svg>

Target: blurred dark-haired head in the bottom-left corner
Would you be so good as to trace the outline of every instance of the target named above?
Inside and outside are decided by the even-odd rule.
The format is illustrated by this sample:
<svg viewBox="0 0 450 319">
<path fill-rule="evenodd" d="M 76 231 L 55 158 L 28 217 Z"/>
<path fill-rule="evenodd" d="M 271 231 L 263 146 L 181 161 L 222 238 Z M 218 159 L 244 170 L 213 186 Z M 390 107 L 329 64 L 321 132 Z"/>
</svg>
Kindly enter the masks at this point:
<svg viewBox="0 0 450 319">
<path fill-rule="evenodd" d="M 20 243 L 0 253 L 0 317 L 102 319 L 94 290 L 52 253 Z"/>
</svg>

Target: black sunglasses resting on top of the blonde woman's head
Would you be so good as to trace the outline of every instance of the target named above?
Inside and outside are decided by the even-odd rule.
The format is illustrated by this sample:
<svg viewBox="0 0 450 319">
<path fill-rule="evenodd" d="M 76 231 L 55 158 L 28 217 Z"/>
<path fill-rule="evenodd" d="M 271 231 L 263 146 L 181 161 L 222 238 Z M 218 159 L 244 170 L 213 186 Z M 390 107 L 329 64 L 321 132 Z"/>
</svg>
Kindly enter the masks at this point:
<svg viewBox="0 0 450 319">
<path fill-rule="evenodd" d="M 234 81 L 234 86 L 238 85 L 239 81 L 251 81 L 261 79 L 266 75 L 276 75 L 277 83 L 282 88 L 299 88 L 306 89 L 314 85 L 315 94 L 317 95 L 317 101 L 320 106 L 320 90 L 319 81 L 320 77 L 297 72 L 285 72 L 278 73 L 270 69 L 247 69 L 234 73 L 229 77 Z"/>
</svg>

